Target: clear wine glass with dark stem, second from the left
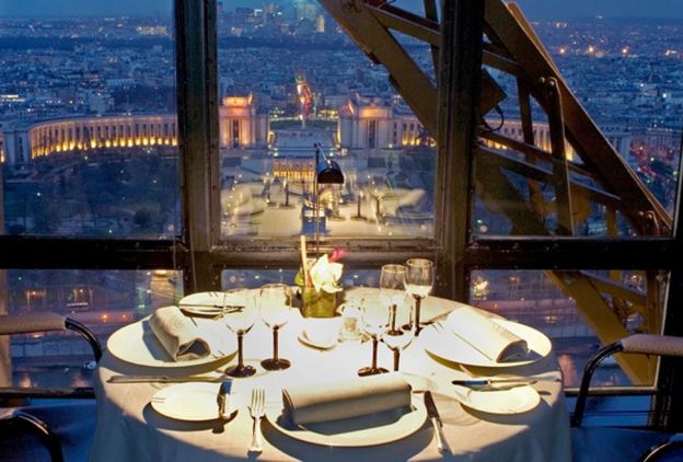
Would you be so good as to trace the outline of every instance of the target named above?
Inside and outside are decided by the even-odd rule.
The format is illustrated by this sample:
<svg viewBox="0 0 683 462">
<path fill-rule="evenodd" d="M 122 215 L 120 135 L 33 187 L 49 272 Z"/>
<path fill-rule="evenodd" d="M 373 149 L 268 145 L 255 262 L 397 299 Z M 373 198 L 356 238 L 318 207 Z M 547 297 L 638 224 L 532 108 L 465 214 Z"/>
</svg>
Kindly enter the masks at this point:
<svg viewBox="0 0 683 462">
<path fill-rule="evenodd" d="M 287 359 L 278 356 L 278 332 L 289 321 L 292 291 L 283 284 L 266 284 L 258 294 L 261 319 L 273 328 L 273 358 L 261 361 L 266 370 L 282 370 L 291 366 Z"/>
</svg>

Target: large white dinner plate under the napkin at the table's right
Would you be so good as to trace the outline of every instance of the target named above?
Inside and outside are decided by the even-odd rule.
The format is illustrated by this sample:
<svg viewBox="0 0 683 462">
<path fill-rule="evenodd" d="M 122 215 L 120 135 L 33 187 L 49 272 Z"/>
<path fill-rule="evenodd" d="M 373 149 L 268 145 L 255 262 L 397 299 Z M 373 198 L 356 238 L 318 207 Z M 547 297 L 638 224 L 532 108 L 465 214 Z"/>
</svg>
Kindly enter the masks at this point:
<svg viewBox="0 0 683 462">
<path fill-rule="evenodd" d="M 445 323 L 438 331 L 433 326 L 422 330 L 419 338 L 425 349 L 438 358 L 484 368 L 510 368 L 529 365 L 545 358 L 553 349 L 551 339 L 533 327 L 508 320 L 491 319 L 491 321 L 526 340 L 529 354 L 523 360 L 496 362 L 450 331 L 444 325 Z"/>
</svg>

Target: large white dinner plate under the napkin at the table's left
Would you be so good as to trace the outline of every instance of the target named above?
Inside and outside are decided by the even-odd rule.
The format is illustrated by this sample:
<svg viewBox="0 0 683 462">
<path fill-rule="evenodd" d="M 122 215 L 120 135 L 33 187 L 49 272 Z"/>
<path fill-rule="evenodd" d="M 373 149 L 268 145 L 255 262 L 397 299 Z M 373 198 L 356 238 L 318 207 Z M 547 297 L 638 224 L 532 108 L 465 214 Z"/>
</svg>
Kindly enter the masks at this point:
<svg viewBox="0 0 683 462">
<path fill-rule="evenodd" d="M 121 361 L 150 368 L 185 368 L 222 361 L 236 353 L 235 336 L 218 321 L 194 320 L 207 340 L 211 354 L 204 358 L 176 361 L 166 353 L 149 326 L 149 316 L 128 324 L 109 336 L 107 350 Z"/>
</svg>

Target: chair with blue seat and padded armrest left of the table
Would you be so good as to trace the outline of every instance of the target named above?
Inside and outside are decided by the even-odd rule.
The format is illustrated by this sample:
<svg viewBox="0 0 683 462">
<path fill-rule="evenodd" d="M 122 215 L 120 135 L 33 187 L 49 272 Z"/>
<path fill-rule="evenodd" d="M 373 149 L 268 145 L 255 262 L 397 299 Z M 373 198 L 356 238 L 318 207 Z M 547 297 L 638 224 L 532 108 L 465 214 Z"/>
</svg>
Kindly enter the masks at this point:
<svg viewBox="0 0 683 462">
<path fill-rule="evenodd" d="M 32 334 L 50 331 L 73 331 L 84 337 L 92 349 L 95 361 L 102 357 L 102 346 L 96 336 L 82 323 L 58 313 L 28 313 L 0 315 L 0 335 Z M 26 406 L 26 399 L 62 399 L 94 396 L 92 389 L 18 389 L 0 388 L 0 460 L 39 460 L 49 457 L 63 461 L 60 436 L 46 423 L 56 423 L 60 429 L 86 431 L 85 424 L 92 409 L 88 406 L 67 404 Z M 92 407 L 92 406 L 91 406 Z M 45 416 L 43 418 L 43 416 Z M 79 418 L 82 425 L 66 424 L 67 418 Z M 92 428 L 91 428 L 92 429 Z M 73 439 L 73 438 L 72 438 Z M 36 444 L 38 442 L 39 444 Z M 71 444 L 78 446 L 78 444 Z M 80 458 L 79 458 L 80 459 Z M 84 457 L 83 457 L 84 459 Z"/>
</svg>

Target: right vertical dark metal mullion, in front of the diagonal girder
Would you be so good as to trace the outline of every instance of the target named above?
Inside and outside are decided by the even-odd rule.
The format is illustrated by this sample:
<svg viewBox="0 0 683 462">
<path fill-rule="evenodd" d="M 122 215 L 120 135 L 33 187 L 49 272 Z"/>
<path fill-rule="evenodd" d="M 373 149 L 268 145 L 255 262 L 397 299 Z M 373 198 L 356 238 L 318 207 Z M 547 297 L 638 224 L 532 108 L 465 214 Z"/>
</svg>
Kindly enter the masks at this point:
<svg viewBox="0 0 683 462">
<path fill-rule="evenodd" d="M 444 0 L 441 5 L 437 164 L 438 240 L 443 253 L 436 293 L 459 301 L 468 297 L 465 250 L 471 239 L 474 198 L 473 146 L 482 70 L 484 2 Z"/>
</svg>

